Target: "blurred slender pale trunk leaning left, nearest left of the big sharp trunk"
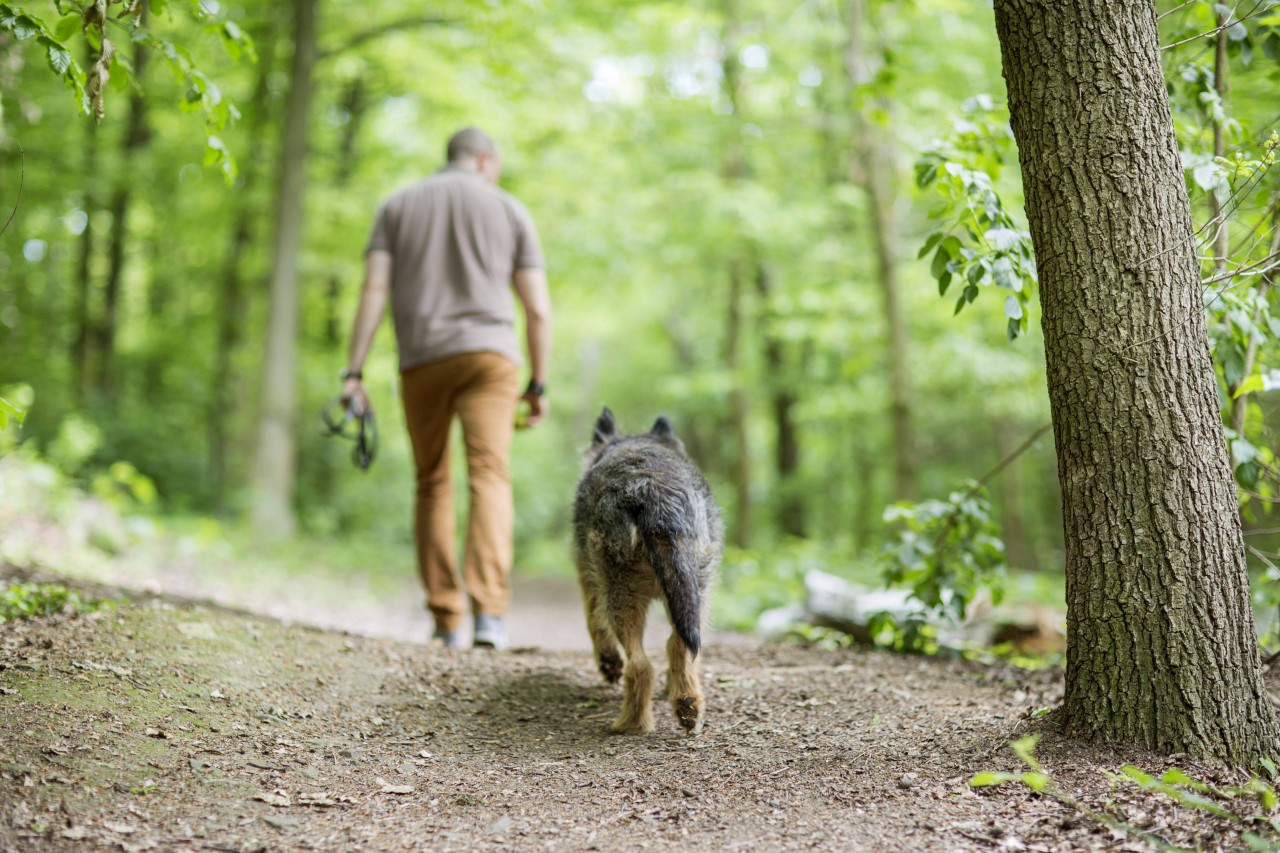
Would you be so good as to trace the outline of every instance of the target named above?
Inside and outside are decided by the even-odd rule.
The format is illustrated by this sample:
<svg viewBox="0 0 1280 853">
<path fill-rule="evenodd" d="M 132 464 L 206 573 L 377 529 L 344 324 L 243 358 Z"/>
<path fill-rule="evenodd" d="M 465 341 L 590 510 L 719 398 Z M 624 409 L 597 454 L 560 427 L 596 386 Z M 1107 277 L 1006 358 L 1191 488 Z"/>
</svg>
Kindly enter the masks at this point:
<svg viewBox="0 0 1280 853">
<path fill-rule="evenodd" d="M 859 88 L 872 77 L 870 49 L 865 44 L 867 0 L 849 0 L 849 45 L 845 69 L 852 85 L 855 104 L 863 100 Z M 888 104 L 884 104 L 886 109 Z M 863 187 L 868 199 L 868 224 L 876 247 L 876 282 L 879 284 L 884 313 L 887 346 L 884 356 L 888 374 L 888 415 L 893 447 L 893 498 L 910 500 L 916 494 L 915 429 L 911 418 L 911 351 L 910 328 L 902 313 L 901 286 L 897 279 L 897 237 L 893 213 L 893 175 L 896 167 L 881 129 L 865 106 L 854 106 L 854 183 Z"/>
</svg>

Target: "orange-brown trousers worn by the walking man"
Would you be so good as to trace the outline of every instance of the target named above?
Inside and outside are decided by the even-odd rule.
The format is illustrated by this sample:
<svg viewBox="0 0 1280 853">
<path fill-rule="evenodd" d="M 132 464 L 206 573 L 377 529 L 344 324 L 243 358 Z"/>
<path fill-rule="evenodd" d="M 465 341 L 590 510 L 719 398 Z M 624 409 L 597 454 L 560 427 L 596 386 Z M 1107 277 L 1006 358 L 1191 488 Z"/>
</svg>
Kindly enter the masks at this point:
<svg viewBox="0 0 1280 853">
<path fill-rule="evenodd" d="M 511 437 L 516 423 L 517 373 L 495 352 L 466 352 L 404 370 L 401 383 L 404 421 L 417 466 L 413 534 L 417 569 L 435 628 L 453 631 L 462 622 L 457 576 L 449 430 L 462 421 L 471 507 L 463 573 L 472 613 L 503 616 L 511 602 L 515 506 L 511 491 Z"/>
</svg>

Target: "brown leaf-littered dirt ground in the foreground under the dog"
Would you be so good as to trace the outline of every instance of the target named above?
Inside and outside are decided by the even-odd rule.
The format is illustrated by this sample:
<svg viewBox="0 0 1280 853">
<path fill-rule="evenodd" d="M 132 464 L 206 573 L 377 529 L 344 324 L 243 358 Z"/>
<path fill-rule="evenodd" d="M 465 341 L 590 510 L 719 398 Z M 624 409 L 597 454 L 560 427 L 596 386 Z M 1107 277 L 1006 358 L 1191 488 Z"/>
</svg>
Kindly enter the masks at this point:
<svg viewBox="0 0 1280 853">
<path fill-rule="evenodd" d="M 1108 776 L 1125 762 L 1219 786 L 1239 774 L 1084 748 L 1033 720 L 1060 701 L 1059 671 L 721 637 L 701 657 L 700 735 L 655 699 L 657 730 L 620 736 L 620 690 L 585 649 L 447 651 L 129 597 L 0 625 L 0 850 L 1240 843 L 1239 822 Z M 581 619 L 576 601 L 547 607 Z M 1037 727 L 1059 797 L 969 786 L 1024 770 L 1007 744 Z"/>
</svg>

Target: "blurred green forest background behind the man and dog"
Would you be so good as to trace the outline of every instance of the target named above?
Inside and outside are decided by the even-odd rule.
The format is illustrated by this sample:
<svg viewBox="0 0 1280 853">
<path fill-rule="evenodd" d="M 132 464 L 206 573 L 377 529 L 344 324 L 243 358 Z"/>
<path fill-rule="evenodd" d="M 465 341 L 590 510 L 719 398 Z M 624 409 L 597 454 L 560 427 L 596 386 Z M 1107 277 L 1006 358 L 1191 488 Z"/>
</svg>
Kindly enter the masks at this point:
<svg viewBox="0 0 1280 853">
<path fill-rule="evenodd" d="M 608 403 L 634 430 L 667 414 L 704 467 L 732 542 L 722 621 L 796 598 L 809 569 L 910 583 L 946 507 L 1023 448 L 955 558 L 1061 599 L 988 4 L 116 0 L 97 27 L 102 5 L 0 3 L 0 560 L 74 570 L 49 532 L 90 492 L 127 519 L 88 535 L 108 555 L 412 576 L 388 325 L 365 368 L 376 464 L 355 470 L 316 412 L 376 205 L 476 124 L 556 307 L 552 418 L 513 451 L 517 573 L 571 575 Z M 1242 511 L 1274 571 L 1280 6 L 1158 9 Z M 296 442 L 285 517 L 251 488 L 273 423 Z"/>
</svg>

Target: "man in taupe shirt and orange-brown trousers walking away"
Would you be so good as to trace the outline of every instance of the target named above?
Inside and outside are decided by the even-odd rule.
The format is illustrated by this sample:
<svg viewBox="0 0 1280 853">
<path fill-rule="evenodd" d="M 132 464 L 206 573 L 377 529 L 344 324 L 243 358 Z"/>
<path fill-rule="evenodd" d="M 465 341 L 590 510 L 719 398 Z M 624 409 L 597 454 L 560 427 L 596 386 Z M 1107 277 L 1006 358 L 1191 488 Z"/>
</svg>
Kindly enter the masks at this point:
<svg viewBox="0 0 1280 853">
<path fill-rule="evenodd" d="M 463 575 L 474 642 L 507 647 L 515 507 L 508 459 L 517 400 L 529 425 L 547 414 L 552 307 L 534 222 L 497 187 L 502 158 L 477 128 L 449 138 L 448 164 L 388 197 L 365 250 L 365 283 L 351 334 L 343 396 L 369 407 L 361 366 L 387 297 L 399 351 L 404 420 L 417 467 L 419 574 L 435 619 L 433 639 L 458 644 L 449 429 L 462 421 L 471 511 Z M 526 319 L 530 379 L 518 394 L 515 300 Z"/>
</svg>

